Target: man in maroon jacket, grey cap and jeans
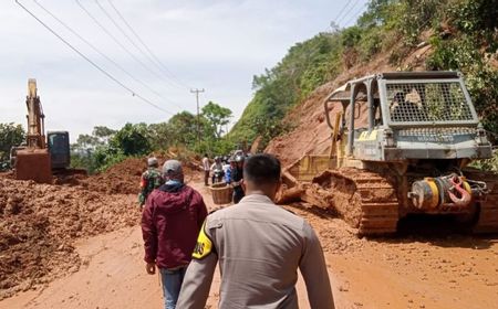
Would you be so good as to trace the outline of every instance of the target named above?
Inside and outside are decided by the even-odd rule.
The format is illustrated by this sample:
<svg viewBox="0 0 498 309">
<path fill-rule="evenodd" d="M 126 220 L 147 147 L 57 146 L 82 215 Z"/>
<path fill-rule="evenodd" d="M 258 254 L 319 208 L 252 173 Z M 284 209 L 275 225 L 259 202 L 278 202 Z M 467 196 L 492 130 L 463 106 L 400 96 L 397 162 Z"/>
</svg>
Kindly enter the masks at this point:
<svg viewBox="0 0 498 309">
<path fill-rule="evenodd" d="M 203 196 L 184 183 L 181 163 L 163 166 L 166 183 L 154 190 L 142 214 L 147 274 L 159 269 L 165 309 L 174 309 L 207 209 Z"/>
</svg>

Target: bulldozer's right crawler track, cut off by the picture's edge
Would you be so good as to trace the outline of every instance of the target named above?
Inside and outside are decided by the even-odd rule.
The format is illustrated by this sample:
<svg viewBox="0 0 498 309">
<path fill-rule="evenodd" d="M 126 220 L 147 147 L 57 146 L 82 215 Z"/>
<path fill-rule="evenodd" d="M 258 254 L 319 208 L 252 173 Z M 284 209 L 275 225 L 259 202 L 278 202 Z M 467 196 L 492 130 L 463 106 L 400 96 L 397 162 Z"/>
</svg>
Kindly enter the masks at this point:
<svg viewBox="0 0 498 309">
<path fill-rule="evenodd" d="M 498 175 L 488 171 L 466 170 L 469 180 L 486 182 L 488 192 L 479 202 L 479 217 L 474 233 L 498 233 Z"/>
</svg>

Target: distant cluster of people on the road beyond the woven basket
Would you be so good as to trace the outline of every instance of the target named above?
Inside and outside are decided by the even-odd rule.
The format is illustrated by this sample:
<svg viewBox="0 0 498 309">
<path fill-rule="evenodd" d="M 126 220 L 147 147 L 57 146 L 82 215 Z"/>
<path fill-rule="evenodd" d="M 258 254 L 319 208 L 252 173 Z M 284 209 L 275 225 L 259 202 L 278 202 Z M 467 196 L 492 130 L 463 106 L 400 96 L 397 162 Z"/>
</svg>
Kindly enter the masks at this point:
<svg viewBox="0 0 498 309">
<path fill-rule="evenodd" d="M 238 151 L 231 157 L 215 157 L 215 162 L 210 164 L 209 156 L 203 158 L 204 184 L 209 185 L 209 175 L 212 175 L 211 183 L 225 182 L 234 188 L 232 202 L 237 204 L 243 198 L 242 180 L 243 164 L 246 156 Z"/>
</svg>

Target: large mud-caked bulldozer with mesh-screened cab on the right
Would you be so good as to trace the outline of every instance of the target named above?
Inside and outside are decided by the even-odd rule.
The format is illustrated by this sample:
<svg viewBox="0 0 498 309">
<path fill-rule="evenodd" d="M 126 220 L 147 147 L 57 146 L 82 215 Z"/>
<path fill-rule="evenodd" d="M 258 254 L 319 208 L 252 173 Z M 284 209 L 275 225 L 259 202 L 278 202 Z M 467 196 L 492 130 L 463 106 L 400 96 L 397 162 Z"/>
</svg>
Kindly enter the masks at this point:
<svg viewBox="0 0 498 309">
<path fill-rule="evenodd" d="M 498 175 L 469 168 L 491 158 L 492 147 L 460 73 L 367 75 L 323 106 L 329 153 L 286 168 L 281 196 L 333 210 L 359 235 L 393 234 L 411 214 L 498 232 Z"/>
</svg>

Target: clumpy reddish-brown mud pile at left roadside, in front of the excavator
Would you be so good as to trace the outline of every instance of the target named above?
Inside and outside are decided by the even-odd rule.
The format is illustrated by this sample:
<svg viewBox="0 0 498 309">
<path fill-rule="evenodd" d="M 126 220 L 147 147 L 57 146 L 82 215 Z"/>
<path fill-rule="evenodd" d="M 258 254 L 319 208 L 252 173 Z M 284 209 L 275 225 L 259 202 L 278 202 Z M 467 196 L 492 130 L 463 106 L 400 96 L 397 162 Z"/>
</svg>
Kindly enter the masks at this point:
<svg viewBox="0 0 498 309">
<path fill-rule="evenodd" d="M 133 195 L 0 179 L 0 299 L 76 271 L 74 238 L 138 222 Z"/>
</svg>

